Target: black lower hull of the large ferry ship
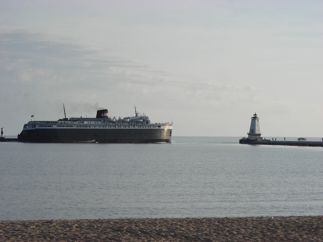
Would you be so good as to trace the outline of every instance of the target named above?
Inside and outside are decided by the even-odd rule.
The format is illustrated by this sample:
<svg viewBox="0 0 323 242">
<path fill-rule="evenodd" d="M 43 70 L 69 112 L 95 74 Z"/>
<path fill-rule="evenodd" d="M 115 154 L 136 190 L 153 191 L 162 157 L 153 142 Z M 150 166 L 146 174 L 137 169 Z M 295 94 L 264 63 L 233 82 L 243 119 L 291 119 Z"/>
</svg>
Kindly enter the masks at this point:
<svg viewBox="0 0 323 242">
<path fill-rule="evenodd" d="M 41 128 L 23 130 L 19 141 L 43 143 L 157 143 L 170 142 L 172 129 Z"/>
</svg>

